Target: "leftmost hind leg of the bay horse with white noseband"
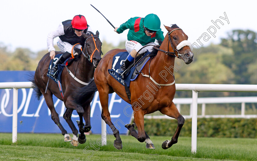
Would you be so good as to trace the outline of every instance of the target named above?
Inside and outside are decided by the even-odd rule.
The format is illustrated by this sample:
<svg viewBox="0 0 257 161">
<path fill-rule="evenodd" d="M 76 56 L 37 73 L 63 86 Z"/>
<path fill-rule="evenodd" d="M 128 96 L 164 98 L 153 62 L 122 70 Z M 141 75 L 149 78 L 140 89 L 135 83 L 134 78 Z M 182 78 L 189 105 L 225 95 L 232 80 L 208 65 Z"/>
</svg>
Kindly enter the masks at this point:
<svg viewBox="0 0 257 161">
<path fill-rule="evenodd" d="M 110 112 L 108 109 L 108 93 L 106 93 L 105 91 L 107 90 L 99 90 L 99 98 L 100 98 L 100 102 L 102 105 L 102 119 L 105 121 L 105 123 L 107 125 L 110 126 L 110 129 L 112 129 L 113 131 L 113 135 L 116 138 L 116 140 L 114 140 L 114 147 L 118 150 L 122 149 L 122 141 L 121 141 L 121 137 L 120 137 L 120 132 L 118 129 L 116 129 L 116 127 L 114 126 L 114 124 L 111 122 L 111 117 L 110 117 Z M 110 131 L 109 131 L 110 132 Z"/>
</svg>

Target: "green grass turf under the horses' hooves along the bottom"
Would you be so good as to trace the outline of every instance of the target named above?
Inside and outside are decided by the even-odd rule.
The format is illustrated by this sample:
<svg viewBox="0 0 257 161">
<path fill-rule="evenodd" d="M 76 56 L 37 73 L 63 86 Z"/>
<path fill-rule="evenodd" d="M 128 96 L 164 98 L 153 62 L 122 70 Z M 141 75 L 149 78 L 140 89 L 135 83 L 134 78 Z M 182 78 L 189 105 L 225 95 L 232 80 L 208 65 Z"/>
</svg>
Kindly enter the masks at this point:
<svg viewBox="0 0 257 161">
<path fill-rule="evenodd" d="M 117 150 L 113 135 L 107 139 L 106 146 L 96 144 L 101 135 L 88 135 L 85 144 L 73 147 L 70 142 L 64 142 L 61 134 L 18 133 L 14 144 L 11 133 L 0 134 L 0 160 L 257 160 L 257 139 L 199 137 L 197 152 L 192 154 L 190 137 L 179 137 L 177 144 L 164 150 L 162 142 L 171 137 L 152 136 L 155 145 L 152 150 L 132 136 L 121 135 L 123 148 Z"/>
</svg>

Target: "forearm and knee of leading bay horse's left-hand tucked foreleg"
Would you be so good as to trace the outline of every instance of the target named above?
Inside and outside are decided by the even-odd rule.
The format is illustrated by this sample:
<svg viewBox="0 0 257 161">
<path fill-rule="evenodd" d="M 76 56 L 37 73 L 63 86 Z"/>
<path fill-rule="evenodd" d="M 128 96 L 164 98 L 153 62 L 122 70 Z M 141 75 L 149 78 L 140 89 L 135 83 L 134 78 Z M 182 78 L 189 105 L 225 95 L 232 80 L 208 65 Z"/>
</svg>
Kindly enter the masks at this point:
<svg viewBox="0 0 257 161">
<path fill-rule="evenodd" d="M 146 133 L 144 131 L 144 114 L 142 110 L 138 110 L 135 112 L 134 121 L 138 129 L 137 140 L 140 142 L 144 142 L 146 140 Z"/>
</svg>

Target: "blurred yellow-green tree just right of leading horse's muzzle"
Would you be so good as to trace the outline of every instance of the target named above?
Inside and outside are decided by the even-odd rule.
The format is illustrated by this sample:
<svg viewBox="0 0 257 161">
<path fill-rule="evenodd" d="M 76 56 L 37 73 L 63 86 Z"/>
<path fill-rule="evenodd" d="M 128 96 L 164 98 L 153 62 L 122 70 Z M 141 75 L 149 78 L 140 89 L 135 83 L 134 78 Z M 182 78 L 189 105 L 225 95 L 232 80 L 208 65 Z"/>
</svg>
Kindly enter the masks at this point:
<svg viewBox="0 0 257 161">
<path fill-rule="evenodd" d="M 174 67 L 176 83 L 180 84 L 234 84 L 234 73 L 222 63 L 225 55 L 233 55 L 228 47 L 210 44 L 202 47 L 201 53 L 194 55 L 194 60 L 186 65 L 180 59 L 182 67 Z M 176 64 L 176 63 L 175 63 Z M 199 97 L 227 96 L 227 92 L 199 92 Z M 176 92 L 176 97 L 192 97 L 192 92 Z"/>
</svg>

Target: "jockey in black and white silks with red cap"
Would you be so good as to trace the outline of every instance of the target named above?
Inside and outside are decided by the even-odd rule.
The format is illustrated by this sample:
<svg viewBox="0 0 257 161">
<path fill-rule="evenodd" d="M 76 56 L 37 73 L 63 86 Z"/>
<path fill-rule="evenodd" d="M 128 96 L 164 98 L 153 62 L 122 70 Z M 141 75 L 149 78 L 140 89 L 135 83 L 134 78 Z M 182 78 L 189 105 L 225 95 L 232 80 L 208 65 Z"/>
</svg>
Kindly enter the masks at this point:
<svg viewBox="0 0 257 161">
<path fill-rule="evenodd" d="M 47 48 L 50 52 L 51 59 L 55 56 L 54 38 L 59 37 L 57 46 L 63 52 L 59 60 L 52 68 L 51 76 L 56 77 L 57 64 L 62 64 L 71 56 L 73 45 L 76 43 L 84 44 L 82 32 L 93 32 L 87 23 L 87 20 L 82 15 L 76 15 L 72 20 L 66 20 L 59 24 L 58 28 L 47 35 Z M 76 47 L 80 48 L 78 44 Z M 73 51 L 74 53 L 74 51 Z"/>
</svg>

